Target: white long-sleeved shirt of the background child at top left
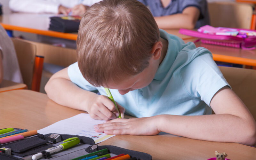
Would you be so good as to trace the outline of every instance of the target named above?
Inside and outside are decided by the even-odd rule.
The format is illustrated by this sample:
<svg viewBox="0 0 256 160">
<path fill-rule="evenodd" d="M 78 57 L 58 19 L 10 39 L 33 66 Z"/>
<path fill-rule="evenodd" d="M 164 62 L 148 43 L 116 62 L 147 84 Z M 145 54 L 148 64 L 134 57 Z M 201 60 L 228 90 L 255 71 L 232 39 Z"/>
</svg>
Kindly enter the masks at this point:
<svg viewBox="0 0 256 160">
<path fill-rule="evenodd" d="M 78 4 L 91 6 L 100 0 L 10 0 L 9 7 L 14 12 L 58 13 L 59 6 L 72 8 Z"/>
</svg>

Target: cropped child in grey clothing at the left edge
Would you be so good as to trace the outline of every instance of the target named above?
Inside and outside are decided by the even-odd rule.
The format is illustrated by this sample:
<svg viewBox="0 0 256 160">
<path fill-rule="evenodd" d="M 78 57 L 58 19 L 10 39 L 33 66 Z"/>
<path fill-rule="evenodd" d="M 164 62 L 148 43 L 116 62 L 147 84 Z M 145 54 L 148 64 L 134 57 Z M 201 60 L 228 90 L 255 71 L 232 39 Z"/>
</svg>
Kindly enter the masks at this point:
<svg viewBox="0 0 256 160">
<path fill-rule="evenodd" d="M 0 83 L 3 79 L 23 83 L 14 45 L 0 25 Z"/>
</svg>

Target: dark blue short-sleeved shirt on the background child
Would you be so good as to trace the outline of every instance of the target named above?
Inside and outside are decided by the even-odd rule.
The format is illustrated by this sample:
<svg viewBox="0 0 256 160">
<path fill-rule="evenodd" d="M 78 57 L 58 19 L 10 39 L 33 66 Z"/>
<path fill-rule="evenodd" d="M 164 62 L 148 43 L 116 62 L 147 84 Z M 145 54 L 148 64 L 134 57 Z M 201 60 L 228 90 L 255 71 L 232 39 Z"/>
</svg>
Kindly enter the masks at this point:
<svg viewBox="0 0 256 160">
<path fill-rule="evenodd" d="M 200 28 L 210 24 L 209 13 L 206 0 L 172 0 L 165 8 L 161 0 L 138 0 L 149 7 L 154 17 L 167 16 L 182 11 L 190 6 L 196 7 L 200 11 L 200 16 L 196 22 L 195 28 Z"/>
</svg>

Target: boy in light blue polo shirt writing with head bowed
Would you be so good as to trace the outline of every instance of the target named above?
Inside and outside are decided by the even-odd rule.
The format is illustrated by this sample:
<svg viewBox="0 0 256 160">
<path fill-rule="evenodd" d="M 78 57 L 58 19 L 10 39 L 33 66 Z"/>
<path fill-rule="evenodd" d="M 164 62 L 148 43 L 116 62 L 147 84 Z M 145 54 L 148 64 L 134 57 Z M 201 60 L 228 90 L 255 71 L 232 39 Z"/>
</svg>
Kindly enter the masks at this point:
<svg viewBox="0 0 256 160">
<path fill-rule="evenodd" d="M 80 23 L 77 63 L 51 77 L 49 98 L 85 110 L 107 134 L 155 135 L 254 145 L 255 121 L 205 48 L 160 30 L 135 0 L 92 5 Z M 110 88 L 121 116 L 103 87 Z M 89 91 L 99 91 L 101 95 Z M 211 114 L 211 106 L 216 115 Z M 186 116 L 185 116 L 186 115 Z M 225 129 L 223 129 L 225 127 Z M 228 132 L 227 132 L 228 131 Z"/>
</svg>

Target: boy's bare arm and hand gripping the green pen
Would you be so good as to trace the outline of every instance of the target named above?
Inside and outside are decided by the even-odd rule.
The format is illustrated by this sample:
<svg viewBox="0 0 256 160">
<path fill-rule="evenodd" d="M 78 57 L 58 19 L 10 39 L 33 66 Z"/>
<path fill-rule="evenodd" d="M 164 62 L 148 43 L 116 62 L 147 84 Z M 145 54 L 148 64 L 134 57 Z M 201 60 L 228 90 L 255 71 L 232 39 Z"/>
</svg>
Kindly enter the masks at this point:
<svg viewBox="0 0 256 160">
<path fill-rule="evenodd" d="M 87 111 L 94 119 L 114 119 L 115 114 L 118 114 L 114 103 L 107 96 L 86 91 L 72 83 L 68 76 L 68 68 L 55 73 L 45 85 L 45 91 L 56 103 Z M 117 106 L 124 117 L 124 108 L 118 104 Z"/>
</svg>

